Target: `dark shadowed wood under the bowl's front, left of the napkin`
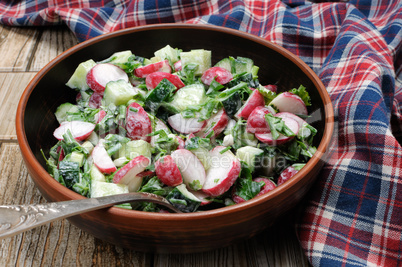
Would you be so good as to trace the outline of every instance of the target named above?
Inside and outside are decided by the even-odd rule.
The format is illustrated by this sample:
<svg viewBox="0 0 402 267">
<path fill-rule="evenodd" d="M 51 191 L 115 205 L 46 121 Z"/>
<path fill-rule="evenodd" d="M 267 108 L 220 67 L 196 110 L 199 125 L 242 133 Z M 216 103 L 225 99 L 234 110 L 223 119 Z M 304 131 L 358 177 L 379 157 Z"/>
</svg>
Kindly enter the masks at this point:
<svg viewBox="0 0 402 267">
<path fill-rule="evenodd" d="M 291 224 L 279 222 L 250 240 L 204 253 L 155 255 L 155 266 L 307 267 Z"/>
</svg>

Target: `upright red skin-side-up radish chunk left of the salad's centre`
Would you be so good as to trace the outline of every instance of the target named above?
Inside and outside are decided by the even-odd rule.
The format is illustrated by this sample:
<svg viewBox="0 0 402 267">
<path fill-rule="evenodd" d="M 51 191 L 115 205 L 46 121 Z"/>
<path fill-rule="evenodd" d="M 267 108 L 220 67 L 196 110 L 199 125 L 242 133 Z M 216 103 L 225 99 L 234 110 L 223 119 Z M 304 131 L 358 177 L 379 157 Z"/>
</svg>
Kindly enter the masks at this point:
<svg viewBox="0 0 402 267">
<path fill-rule="evenodd" d="M 135 112 L 132 109 L 136 109 Z M 126 113 L 127 136 L 132 140 L 151 142 L 152 123 L 147 112 L 138 103 L 133 102 L 127 107 Z"/>
</svg>

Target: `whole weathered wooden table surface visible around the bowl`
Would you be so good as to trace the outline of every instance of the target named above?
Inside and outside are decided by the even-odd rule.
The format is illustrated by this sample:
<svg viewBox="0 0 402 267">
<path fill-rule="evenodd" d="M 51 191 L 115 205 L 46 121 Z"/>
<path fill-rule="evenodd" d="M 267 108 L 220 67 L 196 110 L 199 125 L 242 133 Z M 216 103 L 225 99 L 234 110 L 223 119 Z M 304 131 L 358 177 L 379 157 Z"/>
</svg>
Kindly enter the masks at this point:
<svg viewBox="0 0 402 267">
<path fill-rule="evenodd" d="M 15 134 L 21 93 L 44 65 L 77 43 L 66 27 L 0 26 L 0 205 L 43 203 L 22 160 Z M 1 216 L 1 215 L 0 215 Z M 0 266 L 309 266 L 292 220 L 256 237 L 204 253 L 154 254 L 121 248 L 67 220 L 0 240 Z"/>
</svg>

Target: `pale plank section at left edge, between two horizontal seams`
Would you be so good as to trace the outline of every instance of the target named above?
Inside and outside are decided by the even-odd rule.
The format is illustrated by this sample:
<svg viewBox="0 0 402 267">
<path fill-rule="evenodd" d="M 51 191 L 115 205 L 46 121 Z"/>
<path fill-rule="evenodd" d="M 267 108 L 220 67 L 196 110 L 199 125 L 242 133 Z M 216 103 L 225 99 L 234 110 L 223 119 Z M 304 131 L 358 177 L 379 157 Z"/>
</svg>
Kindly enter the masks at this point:
<svg viewBox="0 0 402 267">
<path fill-rule="evenodd" d="M 0 73 L 0 141 L 16 140 L 15 115 L 22 92 L 35 73 Z"/>
</svg>

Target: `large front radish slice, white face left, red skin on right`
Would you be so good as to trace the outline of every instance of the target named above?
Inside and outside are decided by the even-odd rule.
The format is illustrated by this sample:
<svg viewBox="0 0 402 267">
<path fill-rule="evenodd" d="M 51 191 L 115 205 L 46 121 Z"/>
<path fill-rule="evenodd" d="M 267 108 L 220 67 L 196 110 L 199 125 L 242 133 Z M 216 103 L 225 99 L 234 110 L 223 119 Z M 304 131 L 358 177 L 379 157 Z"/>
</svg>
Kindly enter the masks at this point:
<svg viewBox="0 0 402 267">
<path fill-rule="evenodd" d="M 202 191 L 209 196 L 219 196 L 229 190 L 239 177 L 241 164 L 231 151 L 221 153 L 226 147 L 217 146 L 210 152 L 211 167 L 206 173 Z"/>
</svg>

